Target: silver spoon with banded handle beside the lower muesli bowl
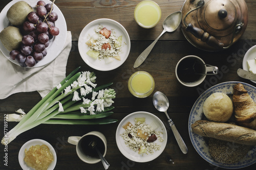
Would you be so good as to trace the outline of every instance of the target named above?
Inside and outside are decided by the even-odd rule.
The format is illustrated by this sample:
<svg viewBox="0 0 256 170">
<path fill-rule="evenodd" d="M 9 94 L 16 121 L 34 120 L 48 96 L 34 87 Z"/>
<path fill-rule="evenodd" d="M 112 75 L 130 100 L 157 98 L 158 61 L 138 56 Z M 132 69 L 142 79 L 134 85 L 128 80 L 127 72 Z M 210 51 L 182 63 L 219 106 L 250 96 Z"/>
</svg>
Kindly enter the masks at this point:
<svg viewBox="0 0 256 170">
<path fill-rule="evenodd" d="M 184 143 L 182 137 L 180 136 L 180 133 L 176 129 L 173 120 L 170 119 L 169 115 L 167 114 L 167 109 L 169 107 L 169 101 L 168 101 L 167 97 L 162 92 L 157 91 L 153 95 L 153 104 L 158 111 L 164 112 L 166 114 L 166 116 L 168 118 L 169 126 L 174 133 L 174 136 L 178 142 L 178 145 L 179 145 L 181 151 L 183 152 L 183 154 L 186 154 L 187 153 L 186 144 Z"/>
</svg>

